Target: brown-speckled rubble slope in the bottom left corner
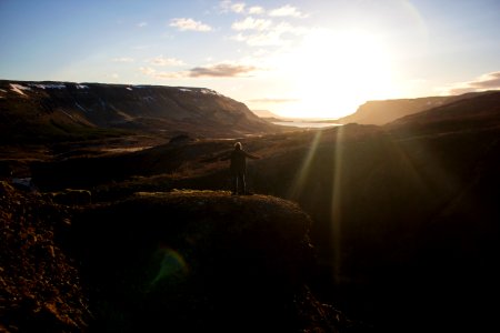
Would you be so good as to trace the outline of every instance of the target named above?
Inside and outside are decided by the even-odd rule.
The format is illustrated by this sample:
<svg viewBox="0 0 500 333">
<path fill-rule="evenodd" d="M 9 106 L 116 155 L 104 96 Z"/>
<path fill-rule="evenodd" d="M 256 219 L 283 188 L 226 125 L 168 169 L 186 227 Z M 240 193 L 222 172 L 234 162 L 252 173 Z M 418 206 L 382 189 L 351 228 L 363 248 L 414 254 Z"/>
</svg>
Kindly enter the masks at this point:
<svg viewBox="0 0 500 333">
<path fill-rule="evenodd" d="M 66 209 L 0 182 L 0 332 L 87 330 L 87 293 L 60 239 L 69 229 Z"/>
</svg>

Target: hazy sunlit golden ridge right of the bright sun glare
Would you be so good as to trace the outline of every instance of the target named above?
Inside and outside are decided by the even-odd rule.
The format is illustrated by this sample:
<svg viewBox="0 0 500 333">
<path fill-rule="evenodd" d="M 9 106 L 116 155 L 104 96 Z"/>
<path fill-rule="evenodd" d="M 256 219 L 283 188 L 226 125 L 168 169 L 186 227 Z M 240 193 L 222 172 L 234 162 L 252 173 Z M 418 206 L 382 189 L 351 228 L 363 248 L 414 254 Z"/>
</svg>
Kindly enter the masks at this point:
<svg viewBox="0 0 500 333">
<path fill-rule="evenodd" d="M 489 92 L 486 91 L 448 97 L 367 101 L 364 104 L 360 105 L 354 113 L 340 118 L 336 120 L 336 122 L 342 124 L 359 123 L 383 125 L 396 119 L 409 114 L 418 113 L 421 111 L 453 103 L 459 100 L 466 100 L 488 93 Z"/>
</svg>

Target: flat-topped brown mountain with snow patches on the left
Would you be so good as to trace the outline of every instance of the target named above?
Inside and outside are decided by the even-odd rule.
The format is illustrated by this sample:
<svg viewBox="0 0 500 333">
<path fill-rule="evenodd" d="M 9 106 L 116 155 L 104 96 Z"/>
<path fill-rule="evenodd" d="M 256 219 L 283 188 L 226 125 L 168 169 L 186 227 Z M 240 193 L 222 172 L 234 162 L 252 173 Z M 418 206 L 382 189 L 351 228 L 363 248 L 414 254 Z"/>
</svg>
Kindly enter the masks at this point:
<svg viewBox="0 0 500 333">
<path fill-rule="evenodd" d="M 213 90 L 0 80 L 1 141 L 87 139 L 142 131 L 233 138 L 279 128 Z"/>
</svg>

